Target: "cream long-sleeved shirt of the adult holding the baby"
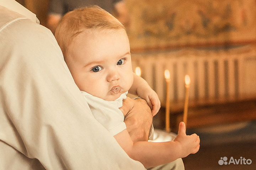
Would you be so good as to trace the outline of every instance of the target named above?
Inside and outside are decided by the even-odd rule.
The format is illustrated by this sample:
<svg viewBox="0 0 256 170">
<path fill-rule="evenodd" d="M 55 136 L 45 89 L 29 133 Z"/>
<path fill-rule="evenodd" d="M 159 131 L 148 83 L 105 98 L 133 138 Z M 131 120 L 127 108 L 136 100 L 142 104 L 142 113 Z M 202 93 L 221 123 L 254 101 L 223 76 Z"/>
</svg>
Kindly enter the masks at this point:
<svg viewBox="0 0 256 170">
<path fill-rule="evenodd" d="M 0 169 L 144 169 L 95 120 L 50 30 L 14 11 L 0 0 Z"/>
</svg>

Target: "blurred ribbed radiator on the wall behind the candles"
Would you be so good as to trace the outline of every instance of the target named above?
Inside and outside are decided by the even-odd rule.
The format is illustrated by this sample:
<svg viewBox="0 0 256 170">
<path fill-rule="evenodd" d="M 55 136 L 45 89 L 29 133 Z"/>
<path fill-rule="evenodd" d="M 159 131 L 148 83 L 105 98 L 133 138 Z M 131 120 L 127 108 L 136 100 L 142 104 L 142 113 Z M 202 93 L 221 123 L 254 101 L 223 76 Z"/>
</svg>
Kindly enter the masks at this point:
<svg viewBox="0 0 256 170">
<path fill-rule="evenodd" d="M 133 70 L 135 71 L 135 67 L 141 68 L 142 78 L 156 91 L 164 106 L 165 69 L 170 70 L 172 102 L 184 101 L 186 74 L 191 79 L 190 100 L 192 101 L 218 99 L 228 101 L 230 98 L 242 98 L 248 92 L 244 85 L 245 61 L 250 57 L 256 58 L 255 51 L 244 47 L 228 51 L 180 50 L 132 54 L 132 61 Z"/>
</svg>

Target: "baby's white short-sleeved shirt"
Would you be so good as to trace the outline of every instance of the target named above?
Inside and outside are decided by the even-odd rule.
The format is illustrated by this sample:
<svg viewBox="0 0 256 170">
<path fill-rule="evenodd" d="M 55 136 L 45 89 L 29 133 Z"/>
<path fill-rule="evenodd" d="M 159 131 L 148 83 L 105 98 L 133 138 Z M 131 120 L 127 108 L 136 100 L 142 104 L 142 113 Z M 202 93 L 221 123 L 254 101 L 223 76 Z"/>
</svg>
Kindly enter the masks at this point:
<svg viewBox="0 0 256 170">
<path fill-rule="evenodd" d="M 123 106 L 123 100 L 126 99 L 128 92 L 121 94 L 120 97 L 114 101 L 103 100 L 85 91 L 81 91 L 81 93 L 85 97 L 95 119 L 98 120 L 111 135 L 114 136 L 126 129 L 124 115 L 119 108 Z"/>
</svg>

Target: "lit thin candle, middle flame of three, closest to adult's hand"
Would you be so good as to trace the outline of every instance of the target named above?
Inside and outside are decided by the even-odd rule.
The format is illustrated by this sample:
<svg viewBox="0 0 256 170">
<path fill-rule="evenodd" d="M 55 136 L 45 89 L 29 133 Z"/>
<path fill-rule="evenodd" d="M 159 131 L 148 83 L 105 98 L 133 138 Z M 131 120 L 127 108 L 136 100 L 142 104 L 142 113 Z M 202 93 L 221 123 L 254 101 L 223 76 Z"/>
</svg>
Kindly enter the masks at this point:
<svg viewBox="0 0 256 170">
<path fill-rule="evenodd" d="M 170 72 L 165 70 L 165 81 L 166 81 L 166 104 L 165 104 L 165 130 L 170 132 Z"/>
</svg>

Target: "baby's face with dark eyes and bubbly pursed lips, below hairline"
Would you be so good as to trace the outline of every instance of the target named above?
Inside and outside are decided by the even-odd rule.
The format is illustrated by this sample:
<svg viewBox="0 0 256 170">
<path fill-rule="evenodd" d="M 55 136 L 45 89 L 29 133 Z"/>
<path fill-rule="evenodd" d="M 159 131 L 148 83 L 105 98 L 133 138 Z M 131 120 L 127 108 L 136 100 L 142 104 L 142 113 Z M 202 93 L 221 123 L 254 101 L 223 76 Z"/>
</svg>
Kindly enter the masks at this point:
<svg viewBox="0 0 256 170">
<path fill-rule="evenodd" d="M 67 55 L 66 63 L 81 91 L 113 101 L 132 86 L 130 45 L 124 30 L 81 33 Z"/>
</svg>

